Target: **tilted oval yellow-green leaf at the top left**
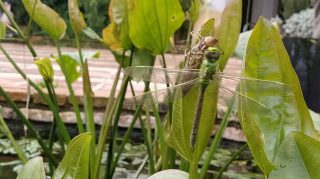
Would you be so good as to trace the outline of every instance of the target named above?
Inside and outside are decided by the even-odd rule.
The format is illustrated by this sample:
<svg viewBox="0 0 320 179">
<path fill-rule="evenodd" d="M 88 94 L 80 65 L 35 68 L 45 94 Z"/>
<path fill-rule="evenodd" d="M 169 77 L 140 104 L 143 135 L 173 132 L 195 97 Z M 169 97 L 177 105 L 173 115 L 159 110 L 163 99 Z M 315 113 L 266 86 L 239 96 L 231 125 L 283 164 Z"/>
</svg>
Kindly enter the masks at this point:
<svg viewBox="0 0 320 179">
<path fill-rule="evenodd" d="M 64 20 L 41 0 L 22 0 L 29 16 L 55 40 L 63 38 L 67 26 Z"/>
</svg>

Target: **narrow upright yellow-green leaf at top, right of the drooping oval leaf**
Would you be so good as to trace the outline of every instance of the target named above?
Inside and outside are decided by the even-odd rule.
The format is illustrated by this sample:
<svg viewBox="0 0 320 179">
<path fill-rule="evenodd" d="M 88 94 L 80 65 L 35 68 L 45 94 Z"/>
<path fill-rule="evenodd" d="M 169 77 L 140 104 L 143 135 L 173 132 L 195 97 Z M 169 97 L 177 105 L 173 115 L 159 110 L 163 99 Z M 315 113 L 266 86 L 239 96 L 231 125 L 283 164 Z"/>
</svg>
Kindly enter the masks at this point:
<svg viewBox="0 0 320 179">
<path fill-rule="evenodd" d="M 68 0 L 68 11 L 72 30 L 75 34 L 80 33 L 87 28 L 77 0 Z"/>
</svg>

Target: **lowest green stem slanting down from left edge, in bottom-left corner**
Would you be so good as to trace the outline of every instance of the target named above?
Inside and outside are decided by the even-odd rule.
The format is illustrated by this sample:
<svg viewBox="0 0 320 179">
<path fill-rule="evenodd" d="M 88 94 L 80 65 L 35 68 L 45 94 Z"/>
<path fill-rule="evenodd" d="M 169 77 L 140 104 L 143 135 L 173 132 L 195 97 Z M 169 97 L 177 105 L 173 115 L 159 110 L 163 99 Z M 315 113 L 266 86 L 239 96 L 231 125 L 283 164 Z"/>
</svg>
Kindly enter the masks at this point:
<svg viewBox="0 0 320 179">
<path fill-rule="evenodd" d="M 7 136 L 7 138 L 10 140 L 10 142 L 12 143 L 12 146 L 13 146 L 14 150 L 16 151 L 16 153 L 17 153 L 19 159 L 21 160 L 21 162 L 23 164 L 25 164 L 25 163 L 28 162 L 28 158 L 26 157 L 26 155 L 24 154 L 24 152 L 21 149 L 20 145 L 17 143 L 17 141 L 13 137 L 13 135 L 12 135 L 9 127 L 7 126 L 6 122 L 4 121 L 1 113 L 2 113 L 2 109 L 0 107 L 0 129 Z"/>
</svg>

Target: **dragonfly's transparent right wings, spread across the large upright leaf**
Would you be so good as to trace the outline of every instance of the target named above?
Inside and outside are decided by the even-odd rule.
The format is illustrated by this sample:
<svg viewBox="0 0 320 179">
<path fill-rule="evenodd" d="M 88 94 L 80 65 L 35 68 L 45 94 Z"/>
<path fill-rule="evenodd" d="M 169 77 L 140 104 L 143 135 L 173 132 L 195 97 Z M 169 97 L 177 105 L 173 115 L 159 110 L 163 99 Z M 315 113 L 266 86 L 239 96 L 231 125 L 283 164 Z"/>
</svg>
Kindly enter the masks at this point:
<svg viewBox="0 0 320 179">
<path fill-rule="evenodd" d="M 231 99 L 241 105 L 242 109 L 251 114 L 275 115 L 281 113 L 284 105 L 284 99 L 293 101 L 294 96 L 291 89 L 286 84 L 248 78 L 239 75 L 217 73 L 213 80 L 219 86 L 219 104 L 220 106 L 229 106 Z"/>
</svg>

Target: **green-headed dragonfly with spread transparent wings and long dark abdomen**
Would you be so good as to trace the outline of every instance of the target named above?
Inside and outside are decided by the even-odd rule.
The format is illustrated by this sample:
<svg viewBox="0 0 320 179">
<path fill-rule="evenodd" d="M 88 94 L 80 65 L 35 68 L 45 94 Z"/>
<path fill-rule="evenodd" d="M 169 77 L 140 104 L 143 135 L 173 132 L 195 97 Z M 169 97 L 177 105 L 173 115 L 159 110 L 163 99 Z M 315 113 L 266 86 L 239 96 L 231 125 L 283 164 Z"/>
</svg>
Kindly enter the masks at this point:
<svg viewBox="0 0 320 179">
<path fill-rule="evenodd" d="M 169 70 L 164 68 L 155 68 L 149 66 L 133 66 L 124 69 L 125 75 L 132 77 L 133 80 L 147 81 L 155 83 L 170 83 L 170 87 L 160 90 L 154 90 L 143 93 L 135 97 L 137 101 L 143 101 L 145 96 L 153 96 L 155 98 L 165 96 L 167 94 L 175 94 L 178 89 L 197 87 L 199 89 L 196 101 L 196 110 L 194 113 L 193 124 L 190 132 L 190 147 L 194 149 L 199 130 L 199 123 L 204 105 L 204 97 L 207 87 L 211 84 L 216 85 L 218 93 L 214 98 L 221 98 L 228 101 L 228 97 L 233 96 L 238 103 L 246 105 L 247 109 L 255 108 L 256 111 L 264 111 L 264 113 L 272 113 L 272 106 L 264 104 L 264 99 L 257 100 L 255 96 L 248 95 L 248 90 L 255 90 L 256 87 L 263 86 L 263 90 L 280 91 L 287 86 L 280 82 L 260 80 L 249 78 L 241 75 L 227 74 L 219 71 L 219 58 L 222 52 L 217 47 L 208 47 L 204 51 L 203 62 L 200 69 L 179 69 Z M 196 78 L 188 81 L 187 76 Z M 168 80 L 169 79 L 169 80 Z M 233 84 L 233 85 L 232 85 Z M 261 90 L 259 88 L 259 90 Z M 257 94 L 258 92 L 255 91 Z M 263 91 L 259 91 L 263 93 Z M 216 108 L 216 106 L 214 106 Z"/>
</svg>

